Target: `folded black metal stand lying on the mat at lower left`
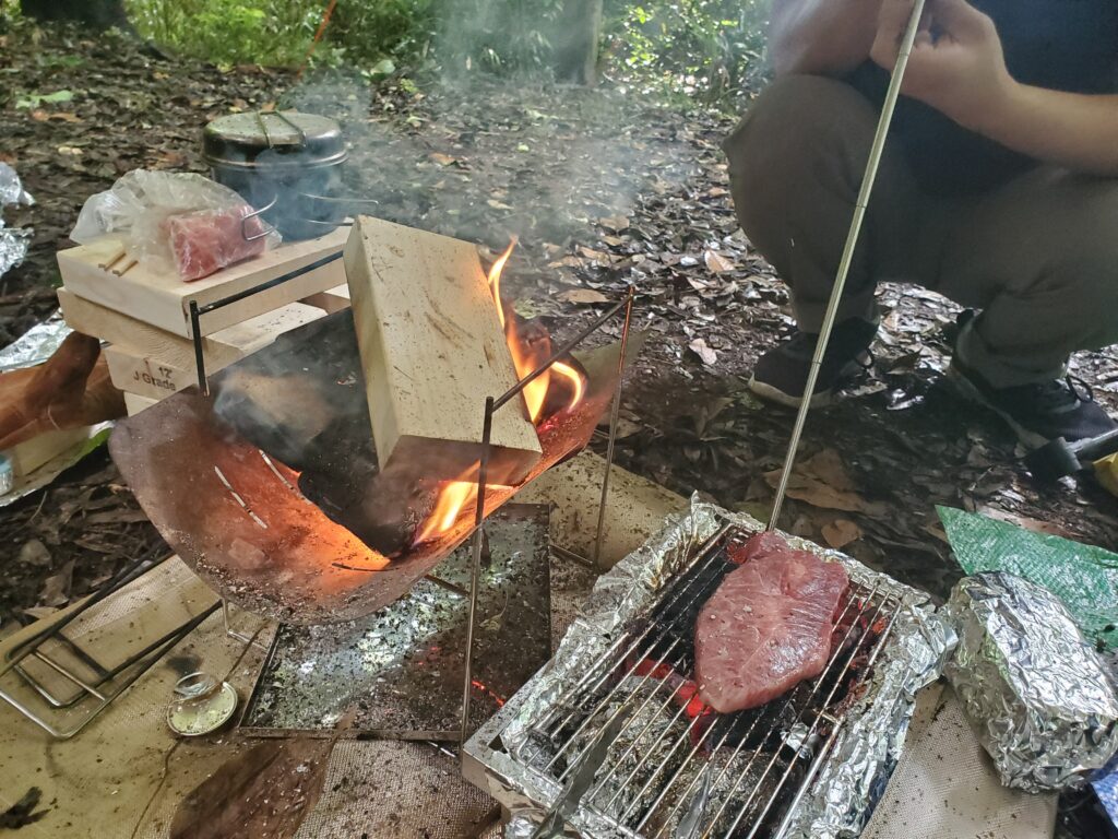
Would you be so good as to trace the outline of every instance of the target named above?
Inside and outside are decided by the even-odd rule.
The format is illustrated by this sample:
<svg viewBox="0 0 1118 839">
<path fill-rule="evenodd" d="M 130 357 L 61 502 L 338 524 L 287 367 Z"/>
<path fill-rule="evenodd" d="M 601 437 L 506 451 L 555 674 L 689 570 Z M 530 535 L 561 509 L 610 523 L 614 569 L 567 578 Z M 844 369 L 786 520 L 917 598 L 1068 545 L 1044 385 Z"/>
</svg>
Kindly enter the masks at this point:
<svg viewBox="0 0 1118 839">
<path fill-rule="evenodd" d="M 160 547 L 159 550 L 162 550 L 162 547 Z M 0 699 L 3 699 L 25 717 L 46 730 L 51 737 L 55 737 L 56 739 L 69 739 L 92 723 L 93 719 L 101 714 L 101 711 L 107 708 L 116 697 L 127 690 L 167 652 L 169 652 L 176 644 L 189 635 L 199 624 L 201 624 L 220 607 L 220 601 L 214 603 L 201 613 L 190 618 L 161 638 L 155 639 L 141 650 L 132 653 L 124 661 L 113 666 L 102 664 L 77 642 L 70 640 L 63 633 L 63 630 L 66 629 L 66 626 L 82 615 L 86 614 L 92 607 L 105 601 L 111 595 L 120 592 L 130 583 L 135 582 L 149 571 L 170 558 L 170 555 L 168 555 L 157 559 L 154 558 L 155 554 L 157 552 L 153 550 L 149 555 L 126 565 L 74 611 L 69 612 L 60 620 L 53 622 L 49 626 L 38 631 L 31 638 L 21 642 L 12 650 L 9 650 L 6 656 L 7 660 L 3 662 L 2 667 L 0 667 L 0 678 L 3 678 L 11 671 L 15 671 L 31 687 L 32 690 L 41 696 L 42 699 L 55 709 L 63 710 L 72 708 L 78 703 L 91 697 L 96 699 L 97 705 L 94 706 L 85 717 L 79 719 L 69 728 L 58 728 L 42 715 L 25 705 L 23 701 L 16 696 L 12 696 L 4 690 L 0 690 Z M 94 673 L 95 680 L 87 679 L 87 677 L 74 672 L 70 668 L 66 667 L 45 652 L 42 647 L 49 641 L 57 641 L 63 644 L 65 649 L 74 656 L 74 658 L 80 661 L 92 673 Z M 28 659 L 34 659 L 35 661 L 45 664 L 50 670 L 63 677 L 63 679 L 76 686 L 77 690 L 69 696 L 55 695 L 46 685 L 36 679 L 30 672 L 28 672 L 27 668 L 23 667 L 23 662 Z M 121 681 L 113 685 L 113 680 L 119 677 L 122 677 Z"/>
</svg>

